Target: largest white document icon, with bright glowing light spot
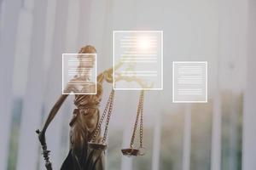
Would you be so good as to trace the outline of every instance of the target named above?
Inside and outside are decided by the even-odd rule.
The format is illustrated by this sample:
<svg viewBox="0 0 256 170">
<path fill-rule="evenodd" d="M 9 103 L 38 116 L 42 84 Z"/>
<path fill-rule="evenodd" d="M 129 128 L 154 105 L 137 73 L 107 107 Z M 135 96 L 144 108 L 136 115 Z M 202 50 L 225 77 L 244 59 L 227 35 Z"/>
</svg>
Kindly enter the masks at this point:
<svg viewBox="0 0 256 170">
<path fill-rule="evenodd" d="M 163 32 L 113 31 L 113 88 L 163 88 Z"/>
</svg>

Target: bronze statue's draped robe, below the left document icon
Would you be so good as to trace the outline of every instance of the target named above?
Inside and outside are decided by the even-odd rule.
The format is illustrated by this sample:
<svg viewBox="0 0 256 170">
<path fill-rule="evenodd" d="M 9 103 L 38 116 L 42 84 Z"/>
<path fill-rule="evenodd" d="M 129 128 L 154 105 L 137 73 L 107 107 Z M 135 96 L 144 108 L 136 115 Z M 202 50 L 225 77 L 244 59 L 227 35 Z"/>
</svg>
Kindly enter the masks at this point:
<svg viewBox="0 0 256 170">
<path fill-rule="evenodd" d="M 102 100 L 102 83 L 97 83 L 95 95 L 76 94 L 73 119 L 70 122 L 70 150 L 61 170 L 104 170 L 105 153 L 91 150 L 88 142 L 99 123 L 99 104 Z M 99 134 L 96 140 L 100 140 Z"/>
</svg>

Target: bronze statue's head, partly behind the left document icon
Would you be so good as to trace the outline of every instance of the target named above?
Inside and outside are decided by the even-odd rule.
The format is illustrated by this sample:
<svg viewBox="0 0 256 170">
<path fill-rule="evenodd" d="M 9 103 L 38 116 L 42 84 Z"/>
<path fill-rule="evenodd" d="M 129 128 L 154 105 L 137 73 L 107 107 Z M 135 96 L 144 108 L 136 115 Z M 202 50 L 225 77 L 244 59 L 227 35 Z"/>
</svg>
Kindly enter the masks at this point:
<svg viewBox="0 0 256 170">
<path fill-rule="evenodd" d="M 81 55 L 84 54 L 84 55 Z M 91 54 L 91 55 L 90 55 Z M 80 49 L 78 59 L 79 59 L 79 76 L 86 77 L 86 74 L 90 72 L 90 69 L 94 67 L 96 48 L 87 45 Z"/>
</svg>

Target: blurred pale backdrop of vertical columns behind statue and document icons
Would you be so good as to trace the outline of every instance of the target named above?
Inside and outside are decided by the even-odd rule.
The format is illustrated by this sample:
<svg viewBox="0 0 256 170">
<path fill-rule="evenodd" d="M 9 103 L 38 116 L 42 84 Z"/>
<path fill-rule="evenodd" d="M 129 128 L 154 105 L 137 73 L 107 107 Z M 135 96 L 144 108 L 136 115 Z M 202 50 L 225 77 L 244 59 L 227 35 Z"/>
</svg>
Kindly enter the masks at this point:
<svg viewBox="0 0 256 170">
<path fill-rule="evenodd" d="M 254 170 L 255 9 L 255 0 L 1 0 L 0 169 L 44 169 L 34 131 L 61 94 L 62 53 L 94 45 L 104 71 L 113 30 L 162 30 L 164 90 L 146 93 L 147 155 L 121 156 L 138 94 L 118 92 L 108 169 Z M 207 104 L 172 104 L 172 61 L 180 60 L 208 61 Z M 111 85 L 104 88 L 102 103 Z M 70 96 L 47 133 L 54 169 L 67 156 L 72 103 Z"/>
</svg>

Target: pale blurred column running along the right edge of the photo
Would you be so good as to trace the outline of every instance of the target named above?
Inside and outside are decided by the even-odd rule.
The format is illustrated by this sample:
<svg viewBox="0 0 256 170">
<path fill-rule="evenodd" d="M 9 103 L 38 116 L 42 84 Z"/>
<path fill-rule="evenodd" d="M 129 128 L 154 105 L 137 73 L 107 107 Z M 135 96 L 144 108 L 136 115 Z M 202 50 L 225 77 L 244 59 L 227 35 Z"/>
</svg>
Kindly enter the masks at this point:
<svg viewBox="0 0 256 170">
<path fill-rule="evenodd" d="M 242 169 L 256 168 L 256 1 L 248 1 L 247 87 L 244 96 Z"/>
</svg>

